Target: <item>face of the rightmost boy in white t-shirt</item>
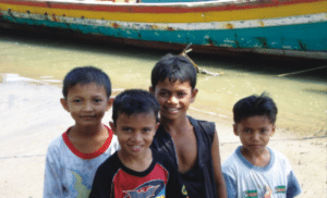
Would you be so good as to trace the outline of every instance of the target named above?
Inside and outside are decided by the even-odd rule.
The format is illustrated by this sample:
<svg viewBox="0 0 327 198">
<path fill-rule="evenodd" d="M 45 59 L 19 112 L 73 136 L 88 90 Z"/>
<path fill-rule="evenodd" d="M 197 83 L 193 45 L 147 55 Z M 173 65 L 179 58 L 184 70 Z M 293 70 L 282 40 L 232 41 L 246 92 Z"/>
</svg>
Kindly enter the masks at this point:
<svg viewBox="0 0 327 198">
<path fill-rule="evenodd" d="M 275 133 L 275 124 L 265 115 L 243 119 L 234 125 L 234 134 L 240 136 L 243 148 L 251 153 L 261 153 Z"/>
</svg>

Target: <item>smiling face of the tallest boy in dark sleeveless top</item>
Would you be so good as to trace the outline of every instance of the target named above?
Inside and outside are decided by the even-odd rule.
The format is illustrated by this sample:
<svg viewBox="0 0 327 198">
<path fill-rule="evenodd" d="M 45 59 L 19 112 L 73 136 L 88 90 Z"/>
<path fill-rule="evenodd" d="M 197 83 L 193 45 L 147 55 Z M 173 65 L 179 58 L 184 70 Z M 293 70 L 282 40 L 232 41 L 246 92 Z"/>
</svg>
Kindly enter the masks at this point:
<svg viewBox="0 0 327 198">
<path fill-rule="evenodd" d="M 169 82 L 166 78 L 164 82 L 159 82 L 155 89 L 150 87 L 150 91 L 160 103 L 161 117 L 177 120 L 186 116 L 186 111 L 194 102 L 198 90 L 192 89 L 189 81 Z"/>
</svg>

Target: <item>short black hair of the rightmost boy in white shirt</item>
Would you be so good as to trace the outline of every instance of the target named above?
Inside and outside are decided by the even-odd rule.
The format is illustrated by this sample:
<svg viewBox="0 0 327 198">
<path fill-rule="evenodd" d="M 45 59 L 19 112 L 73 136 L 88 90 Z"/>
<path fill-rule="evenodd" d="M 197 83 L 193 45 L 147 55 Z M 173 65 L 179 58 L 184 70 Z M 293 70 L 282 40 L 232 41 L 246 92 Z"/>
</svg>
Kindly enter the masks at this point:
<svg viewBox="0 0 327 198">
<path fill-rule="evenodd" d="M 243 119 L 255 115 L 265 115 L 271 124 L 275 124 L 277 111 L 274 100 L 266 92 L 263 92 L 261 96 L 252 95 L 239 100 L 234 104 L 234 124 L 240 123 Z"/>
</svg>

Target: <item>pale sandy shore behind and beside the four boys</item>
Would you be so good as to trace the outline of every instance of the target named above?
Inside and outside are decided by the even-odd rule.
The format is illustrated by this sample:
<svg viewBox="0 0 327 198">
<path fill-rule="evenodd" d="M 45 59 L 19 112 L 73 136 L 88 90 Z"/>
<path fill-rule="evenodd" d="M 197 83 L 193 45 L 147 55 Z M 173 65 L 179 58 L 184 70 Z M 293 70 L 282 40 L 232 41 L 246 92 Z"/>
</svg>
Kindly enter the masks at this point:
<svg viewBox="0 0 327 198">
<path fill-rule="evenodd" d="M 73 124 L 59 103 L 61 89 L 7 83 L 0 92 L 0 197 L 41 197 L 47 147 Z M 110 116 L 108 112 L 105 124 Z M 216 124 L 223 161 L 240 141 L 230 124 Z M 269 147 L 290 160 L 303 189 L 299 197 L 326 197 L 326 138 L 303 139 L 278 129 Z"/>
</svg>

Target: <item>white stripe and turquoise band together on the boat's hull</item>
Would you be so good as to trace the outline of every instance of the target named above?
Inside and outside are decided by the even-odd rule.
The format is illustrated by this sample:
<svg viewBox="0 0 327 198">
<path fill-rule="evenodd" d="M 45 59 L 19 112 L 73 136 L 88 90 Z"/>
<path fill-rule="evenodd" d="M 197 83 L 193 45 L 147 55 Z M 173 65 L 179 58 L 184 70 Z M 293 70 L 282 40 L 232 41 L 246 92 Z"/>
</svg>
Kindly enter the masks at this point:
<svg viewBox="0 0 327 198">
<path fill-rule="evenodd" d="M 174 49 L 177 46 L 180 46 L 178 49 L 182 49 L 192 44 L 193 49 L 201 49 L 199 52 L 253 52 L 327 60 L 326 13 L 201 23 L 148 23 L 113 20 L 104 20 L 106 23 L 102 23 L 97 18 L 65 17 L 64 15 L 53 18 L 55 16 L 48 14 L 26 14 L 0 10 L 0 23 L 59 28 L 75 32 L 76 35 L 110 37 L 140 46 L 159 48 L 168 46 L 166 49 L 169 49 L 169 45 L 171 45 L 174 46 Z M 112 25 L 113 23 L 116 25 Z M 162 28 L 164 26 L 165 28 Z"/>
</svg>

